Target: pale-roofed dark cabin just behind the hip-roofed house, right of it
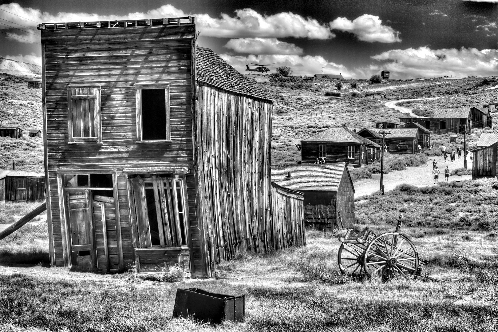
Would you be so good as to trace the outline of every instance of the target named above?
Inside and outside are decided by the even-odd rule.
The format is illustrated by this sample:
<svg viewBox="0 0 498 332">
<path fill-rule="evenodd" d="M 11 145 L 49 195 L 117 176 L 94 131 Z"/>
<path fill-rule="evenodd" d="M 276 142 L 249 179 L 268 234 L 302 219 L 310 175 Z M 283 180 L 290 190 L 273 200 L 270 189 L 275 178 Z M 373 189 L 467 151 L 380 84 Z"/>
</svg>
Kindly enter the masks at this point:
<svg viewBox="0 0 498 332">
<path fill-rule="evenodd" d="M 418 128 L 401 129 L 371 129 L 377 133 L 388 131 L 385 135 L 384 144 L 387 145 L 389 153 L 417 153 L 418 141 L 420 139 Z"/>
</svg>

